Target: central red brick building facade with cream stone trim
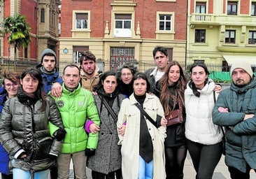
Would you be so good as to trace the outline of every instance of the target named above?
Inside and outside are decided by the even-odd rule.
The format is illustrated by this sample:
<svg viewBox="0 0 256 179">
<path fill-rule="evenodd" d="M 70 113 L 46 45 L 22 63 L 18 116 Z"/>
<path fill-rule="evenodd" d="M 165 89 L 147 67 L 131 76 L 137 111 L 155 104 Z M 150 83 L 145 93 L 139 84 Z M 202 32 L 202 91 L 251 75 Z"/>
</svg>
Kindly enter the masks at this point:
<svg viewBox="0 0 256 179">
<path fill-rule="evenodd" d="M 157 45 L 168 49 L 169 60 L 185 61 L 186 0 L 64 0 L 61 12 L 60 61 L 79 64 L 80 52 L 90 50 L 108 62 L 105 70 L 115 70 L 153 61 Z"/>
</svg>

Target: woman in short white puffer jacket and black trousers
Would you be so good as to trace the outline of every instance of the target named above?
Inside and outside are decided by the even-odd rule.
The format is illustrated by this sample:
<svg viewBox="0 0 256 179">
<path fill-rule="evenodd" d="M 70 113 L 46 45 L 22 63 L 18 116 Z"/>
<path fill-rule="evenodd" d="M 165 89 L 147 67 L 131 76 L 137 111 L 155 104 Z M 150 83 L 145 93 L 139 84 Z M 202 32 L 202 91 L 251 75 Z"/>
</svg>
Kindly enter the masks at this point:
<svg viewBox="0 0 256 179">
<path fill-rule="evenodd" d="M 208 78 L 207 66 L 201 62 L 192 64 L 190 75 L 185 90 L 187 149 L 197 172 L 196 178 L 211 179 L 222 155 L 222 131 L 212 120 L 215 83 Z"/>
</svg>

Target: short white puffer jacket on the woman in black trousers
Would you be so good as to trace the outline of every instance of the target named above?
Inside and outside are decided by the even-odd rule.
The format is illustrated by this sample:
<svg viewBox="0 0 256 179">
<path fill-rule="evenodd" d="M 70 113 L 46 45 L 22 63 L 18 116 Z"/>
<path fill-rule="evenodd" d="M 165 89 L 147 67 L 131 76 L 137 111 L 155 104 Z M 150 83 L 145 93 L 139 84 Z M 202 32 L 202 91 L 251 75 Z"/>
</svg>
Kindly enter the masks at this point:
<svg viewBox="0 0 256 179">
<path fill-rule="evenodd" d="M 187 113 L 185 122 L 185 136 L 190 141 L 204 145 L 213 145 L 222 141 L 222 131 L 218 125 L 213 124 L 212 111 L 214 106 L 213 89 L 215 83 L 209 79 L 200 92 L 194 96 L 192 89 L 187 85 L 185 90 L 185 109 Z M 217 96 L 217 93 L 216 93 Z"/>
</svg>

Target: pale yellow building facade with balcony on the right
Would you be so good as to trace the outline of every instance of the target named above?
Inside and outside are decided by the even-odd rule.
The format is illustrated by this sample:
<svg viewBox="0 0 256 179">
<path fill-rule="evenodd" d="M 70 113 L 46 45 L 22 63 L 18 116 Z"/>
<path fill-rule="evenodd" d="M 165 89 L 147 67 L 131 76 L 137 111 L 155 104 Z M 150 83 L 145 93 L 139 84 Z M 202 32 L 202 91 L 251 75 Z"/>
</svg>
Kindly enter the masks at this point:
<svg viewBox="0 0 256 179">
<path fill-rule="evenodd" d="M 187 14 L 187 62 L 256 66 L 255 0 L 190 0 Z"/>
</svg>

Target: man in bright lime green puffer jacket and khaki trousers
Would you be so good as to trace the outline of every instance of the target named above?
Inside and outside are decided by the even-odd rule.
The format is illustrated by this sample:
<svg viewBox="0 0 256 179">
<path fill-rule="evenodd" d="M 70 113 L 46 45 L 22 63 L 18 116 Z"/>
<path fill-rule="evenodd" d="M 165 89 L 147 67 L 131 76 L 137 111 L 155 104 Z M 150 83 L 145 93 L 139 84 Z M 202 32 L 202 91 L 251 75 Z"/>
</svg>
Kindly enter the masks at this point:
<svg viewBox="0 0 256 179">
<path fill-rule="evenodd" d="M 72 159 L 76 178 L 86 178 L 86 156 L 94 155 L 97 148 L 98 132 L 86 134 L 85 122 L 90 119 L 99 126 L 99 115 L 92 93 L 80 87 L 78 66 L 70 64 L 64 68 L 62 96 L 55 102 L 62 116 L 66 136 L 62 153 L 57 158 L 58 179 L 69 178 L 69 166 Z M 55 131 L 55 127 L 50 127 Z"/>
</svg>

